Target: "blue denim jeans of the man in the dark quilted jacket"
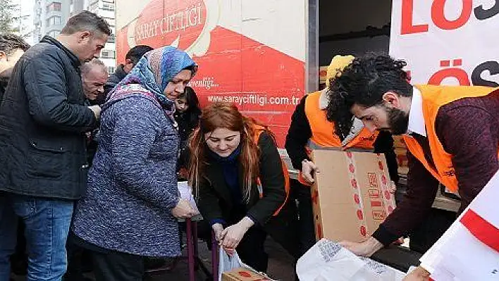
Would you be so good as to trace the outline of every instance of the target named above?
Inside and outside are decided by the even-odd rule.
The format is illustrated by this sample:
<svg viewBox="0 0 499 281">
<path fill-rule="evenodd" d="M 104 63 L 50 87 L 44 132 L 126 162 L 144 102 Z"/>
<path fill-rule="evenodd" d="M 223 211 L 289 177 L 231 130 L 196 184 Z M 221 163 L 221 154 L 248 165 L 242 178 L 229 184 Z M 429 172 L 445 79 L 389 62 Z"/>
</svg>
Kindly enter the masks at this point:
<svg viewBox="0 0 499 281">
<path fill-rule="evenodd" d="M 0 204 L 0 281 L 8 280 L 8 256 L 16 246 L 17 227 L 12 222 L 17 216 L 26 225 L 27 281 L 62 280 L 74 201 L 4 193 Z"/>
</svg>

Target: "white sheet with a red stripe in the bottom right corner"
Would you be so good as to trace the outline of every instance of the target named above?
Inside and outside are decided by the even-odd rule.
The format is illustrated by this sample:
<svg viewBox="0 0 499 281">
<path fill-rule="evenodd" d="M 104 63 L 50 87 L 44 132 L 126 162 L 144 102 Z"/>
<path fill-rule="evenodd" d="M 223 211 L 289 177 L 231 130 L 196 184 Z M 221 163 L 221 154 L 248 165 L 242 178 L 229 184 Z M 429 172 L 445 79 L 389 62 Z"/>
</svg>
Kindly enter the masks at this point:
<svg viewBox="0 0 499 281">
<path fill-rule="evenodd" d="M 421 257 L 436 281 L 499 280 L 499 173 Z"/>
</svg>

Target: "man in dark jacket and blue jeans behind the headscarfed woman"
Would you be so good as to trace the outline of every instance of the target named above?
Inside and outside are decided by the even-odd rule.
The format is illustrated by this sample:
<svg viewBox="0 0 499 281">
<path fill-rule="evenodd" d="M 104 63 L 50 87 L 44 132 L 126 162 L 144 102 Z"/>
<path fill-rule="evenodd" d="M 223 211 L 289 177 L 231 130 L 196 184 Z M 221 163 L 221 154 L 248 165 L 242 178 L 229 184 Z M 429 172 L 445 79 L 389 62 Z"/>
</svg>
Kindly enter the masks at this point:
<svg viewBox="0 0 499 281">
<path fill-rule="evenodd" d="M 73 204 L 85 192 L 85 132 L 99 106 L 86 106 L 80 64 L 99 55 L 111 35 L 103 18 L 84 11 L 61 35 L 46 36 L 20 58 L 0 106 L 0 279 L 15 244 L 16 220 L 27 238 L 27 280 L 61 280 Z M 6 222 L 10 220 L 11 223 Z M 14 241 L 13 241 L 14 240 Z"/>
</svg>

